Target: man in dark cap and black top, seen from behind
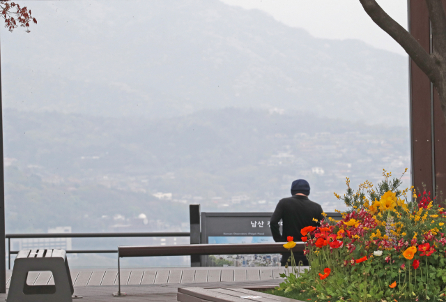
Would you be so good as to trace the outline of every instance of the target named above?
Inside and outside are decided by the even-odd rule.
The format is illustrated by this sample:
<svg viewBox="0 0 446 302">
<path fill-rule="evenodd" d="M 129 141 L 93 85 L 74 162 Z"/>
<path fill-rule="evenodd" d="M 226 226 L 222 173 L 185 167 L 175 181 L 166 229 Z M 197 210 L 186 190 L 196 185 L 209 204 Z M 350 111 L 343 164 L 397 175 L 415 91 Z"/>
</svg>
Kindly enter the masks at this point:
<svg viewBox="0 0 446 302">
<path fill-rule="evenodd" d="M 271 216 L 270 226 L 272 238 L 276 242 L 286 242 L 288 236 L 293 236 L 293 241 L 295 242 L 302 241 L 300 230 L 309 225 L 316 227 L 318 223 L 313 218 L 316 218 L 318 221 L 323 220 L 322 207 L 308 199 L 308 181 L 305 181 L 305 179 L 293 181 L 291 195 L 293 196 L 280 199 Z M 282 234 L 280 234 L 279 230 L 280 220 L 283 222 Z M 303 252 L 293 252 L 293 255 L 296 265 L 299 265 L 300 261 L 302 261 L 304 266 L 309 265 L 307 257 L 305 257 Z M 285 266 L 289 257 L 291 257 L 291 253 L 289 252 L 282 254 L 282 266 Z"/>
</svg>

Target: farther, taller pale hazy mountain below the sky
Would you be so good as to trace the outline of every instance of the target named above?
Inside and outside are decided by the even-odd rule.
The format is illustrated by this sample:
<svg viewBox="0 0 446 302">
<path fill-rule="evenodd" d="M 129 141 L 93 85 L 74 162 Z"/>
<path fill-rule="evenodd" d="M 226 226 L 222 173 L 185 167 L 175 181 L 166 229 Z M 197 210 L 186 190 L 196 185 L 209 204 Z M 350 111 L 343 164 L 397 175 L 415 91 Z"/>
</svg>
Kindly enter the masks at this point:
<svg viewBox="0 0 446 302">
<path fill-rule="evenodd" d="M 217 0 L 33 1 L 31 33 L 3 30 L 3 106 L 169 117 L 279 108 L 408 124 L 407 59 L 314 38 Z"/>
</svg>

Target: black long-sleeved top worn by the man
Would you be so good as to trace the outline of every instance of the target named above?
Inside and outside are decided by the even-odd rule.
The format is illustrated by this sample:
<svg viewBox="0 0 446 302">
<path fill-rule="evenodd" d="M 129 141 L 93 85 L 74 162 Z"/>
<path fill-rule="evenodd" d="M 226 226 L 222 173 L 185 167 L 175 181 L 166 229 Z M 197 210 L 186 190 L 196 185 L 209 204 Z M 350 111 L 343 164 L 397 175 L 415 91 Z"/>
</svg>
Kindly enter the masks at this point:
<svg viewBox="0 0 446 302">
<path fill-rule="evenodd" d="M 272 213 L 270 226 L 272 238 L 276 242 L 286 242 L 286 237 L 293 236 L 294 241 L 302 241 L 300 230 L 312 225 L 318 224 L 313 221 L 323 219 L 322 207 L 316 202 L 312 202 L 308 197 L 302 195 L 293 195 L 281 199 Z M 283 232 L 280 234 L 279 221 L 282 219 Z"/>
</svg>

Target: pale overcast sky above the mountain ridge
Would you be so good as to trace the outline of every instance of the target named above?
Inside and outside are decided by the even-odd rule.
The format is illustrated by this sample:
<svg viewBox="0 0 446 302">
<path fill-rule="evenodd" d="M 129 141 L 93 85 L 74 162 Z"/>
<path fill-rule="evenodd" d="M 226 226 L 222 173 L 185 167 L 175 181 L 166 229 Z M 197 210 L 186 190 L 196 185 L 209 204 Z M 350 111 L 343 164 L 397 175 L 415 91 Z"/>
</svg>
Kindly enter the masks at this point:
<svg viewBox="0 0 446 302">
<path fill-rule="evenodd" d="M 291 27 L 313 36 L 360 39 L 377 48 L 406 54 L 364 12 L 358 0 L 221 0 L 243 8 L 258 8 Z M 407 0 L 378 0 L 381 7 L 407 29 Z"/>
</svg>

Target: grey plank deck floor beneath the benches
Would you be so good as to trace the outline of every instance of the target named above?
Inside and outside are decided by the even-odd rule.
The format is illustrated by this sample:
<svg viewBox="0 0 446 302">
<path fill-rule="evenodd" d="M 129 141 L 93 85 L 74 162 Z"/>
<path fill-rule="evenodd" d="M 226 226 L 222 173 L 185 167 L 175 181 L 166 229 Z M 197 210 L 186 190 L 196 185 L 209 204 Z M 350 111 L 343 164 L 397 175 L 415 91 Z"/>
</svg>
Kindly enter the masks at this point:
<svg viewBox="0 0 446 302">
<path fill-rule="evenodd" d="M 275 287 L 282 282 L 280 267 L 227 267 L 227 268 L 169 268 L 122 269 L 121 291 L 127 296 L 114 297 L 118 291 L 116 269 L 71 269 L 75 295 L 82 302 L 102 301 L 176 301 L 179 287 Z M 8 285 L 11 271 L 7 273 Z M 31 272 L 28 284 L 54 284 L 51 273 Z M 0 299 L 6 299 L 0 294 Z M 74 300 L 76 301 L 76 300 Z"/>
</svg>

